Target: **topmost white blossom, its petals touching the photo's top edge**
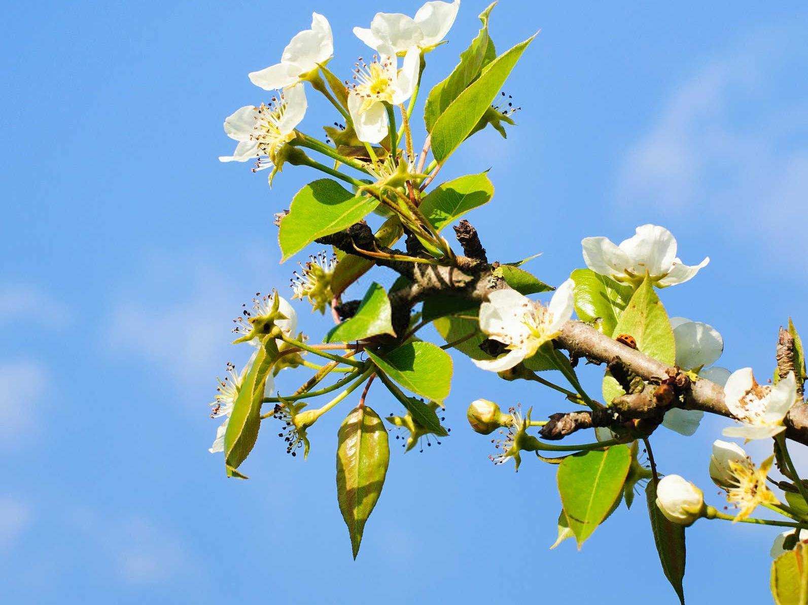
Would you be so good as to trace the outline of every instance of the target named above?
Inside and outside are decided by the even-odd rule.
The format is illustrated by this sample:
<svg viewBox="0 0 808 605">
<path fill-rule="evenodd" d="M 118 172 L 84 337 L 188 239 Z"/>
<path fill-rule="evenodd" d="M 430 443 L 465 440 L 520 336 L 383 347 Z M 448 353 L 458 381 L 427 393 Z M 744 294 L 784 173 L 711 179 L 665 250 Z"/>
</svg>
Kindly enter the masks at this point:
<svg viewBox="0 0 808 605">
<path fill-rule="evenodd" d="M 395 55 L 410 47 L 431 50 L 452 28 L 460 0 L 427 2 L 415 18 L 401 13 L 377 13 L 370 28 L 354 27 L 356 37 L 383 55 Z"/>
</svg>

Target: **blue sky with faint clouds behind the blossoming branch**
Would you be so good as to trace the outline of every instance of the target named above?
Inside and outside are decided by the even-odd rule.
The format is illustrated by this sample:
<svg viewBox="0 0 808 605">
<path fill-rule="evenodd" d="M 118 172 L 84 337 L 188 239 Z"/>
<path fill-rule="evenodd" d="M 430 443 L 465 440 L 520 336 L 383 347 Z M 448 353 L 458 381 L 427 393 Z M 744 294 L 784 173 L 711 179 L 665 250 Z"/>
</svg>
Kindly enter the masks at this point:
<svg viewBox="0 0 808 605">
<path fill-rule="evenodd" d="M 570 542 L 547 550 L 559 510 L 554 469 L 529 460 L 519 474 L 494 468 L 465 408 L 480 396 L 548 413 L 563 402 L 504 385 L 463 357 L 447 401 L 452 437 L 437 451 L 391 453 L 356 562 L 335 498 L 337 415 L 318 422 L 305 462 L 267 432 L 245 465 L 248 482 L 225 479 L 208 453 L 213 379 L 246 357 L 228 344 L 229 320 L 255 291 L 286 288 L 293 266 L 278 263 L 271 216 L 317 177 L 287 169 L 270 191 L 263 174 L 221 165 L 232 148 L 221 123 L 266 100 L 246 73 L 276 62 L 312 10 L 330 19 L 331 66 L 347 77 L 368 54 L 351 27 L 420 3 L 345 4 L 6 6 L 6 599 L 642 603 L 653 594 L 675 603 L 642 499 L 580 553 Z M 430 84 L 476 33 L 484 4 L 464 0 L 449 44 L 429 56 Z M 583 265 L 584 236 L 619 241 L 642 223 L 669 227 L 684 262 L 711 258 L 692 282 L 663 292 L 669 313 L 718 328 L 722 365 L 768 375 L 781 323 L 792 315 L 808 332 L 806 26 L 796 2 L 502 0 L 491 26 L 498 48 L 541 28 L 505 89 L 523 107 L 519 127 L 507 140 L 475 136 L 442 176 L 491 167 L 494 200 L 469 218 L 491 258 L 544 252 L 528 268 L 551 283 Z M 317 135 L 336 116 L 314 94 L 309 106 L 301 127 Z M 327 318 L 298 310 L 316 339 Z M 279 382 L 287 389 L 289 374 Z M 595 392 L 598 380 L 587 375 Z M 398 411 L 377 387 L 368 402 Z M 709 419 L 689 440 L 654 437 L 663 471 L 685 474 L 713 503 L 709 447 L 725 423 Z M 728 593 L 767 602 L 774 533 L 706 521 L 689 529 L 689 603 Z"/>
</svg>

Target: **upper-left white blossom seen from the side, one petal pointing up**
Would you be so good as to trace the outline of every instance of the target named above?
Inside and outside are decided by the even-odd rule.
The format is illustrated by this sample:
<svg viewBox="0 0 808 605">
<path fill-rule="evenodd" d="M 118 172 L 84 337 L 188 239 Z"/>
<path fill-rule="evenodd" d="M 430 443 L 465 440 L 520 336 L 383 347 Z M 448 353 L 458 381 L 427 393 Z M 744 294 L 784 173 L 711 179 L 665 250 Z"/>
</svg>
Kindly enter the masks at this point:
<svg viewBox="0 0 808 605">
<path fill-rule="evenodd" d="M 280 90 L 301 81 L 334 54 L 334 38 L 328 19 L 311 14 L 311 29 L 295 35 L 284 48 L 280 63 L 250 73 L 250 81 L 263 90 Z"/>
</svg>

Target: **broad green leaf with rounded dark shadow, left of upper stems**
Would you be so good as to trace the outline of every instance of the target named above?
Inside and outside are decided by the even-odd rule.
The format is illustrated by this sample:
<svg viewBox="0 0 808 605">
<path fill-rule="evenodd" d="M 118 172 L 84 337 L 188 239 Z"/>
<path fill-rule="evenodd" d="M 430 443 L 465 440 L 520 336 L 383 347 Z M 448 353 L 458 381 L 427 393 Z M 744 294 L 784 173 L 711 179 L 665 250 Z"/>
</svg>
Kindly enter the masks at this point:
<svg viewBox="0 0 808 605">
<path fill-rule="evenodd" d="M 342 231 L 370 213 L 379 200 L 354 195 L 330 178 L 310 182 L 295 194 L 289 214 L 280 222 L 281 262 L 318 237 Z"/>
</svg>

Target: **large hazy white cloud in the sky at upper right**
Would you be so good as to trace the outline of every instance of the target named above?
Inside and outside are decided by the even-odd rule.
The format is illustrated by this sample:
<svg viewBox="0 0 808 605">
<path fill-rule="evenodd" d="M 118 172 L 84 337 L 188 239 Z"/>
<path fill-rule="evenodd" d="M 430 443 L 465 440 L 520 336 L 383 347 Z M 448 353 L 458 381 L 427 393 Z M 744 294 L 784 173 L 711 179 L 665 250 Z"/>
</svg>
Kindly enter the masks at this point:
<svg viewBox="0 0 808 605">
<path fill-rule="evenodd" d="M 791 26 L 745 31 L 681 84 L 629 148 L 617 199 L 669 215 L 697 212 L 741 238 L 771 237 L 789 215 L 800 220 L 808 202 L 803 45 Z M 776 252 L 802 245 L 802 237 L 772 239 Z"/>
</svg>

